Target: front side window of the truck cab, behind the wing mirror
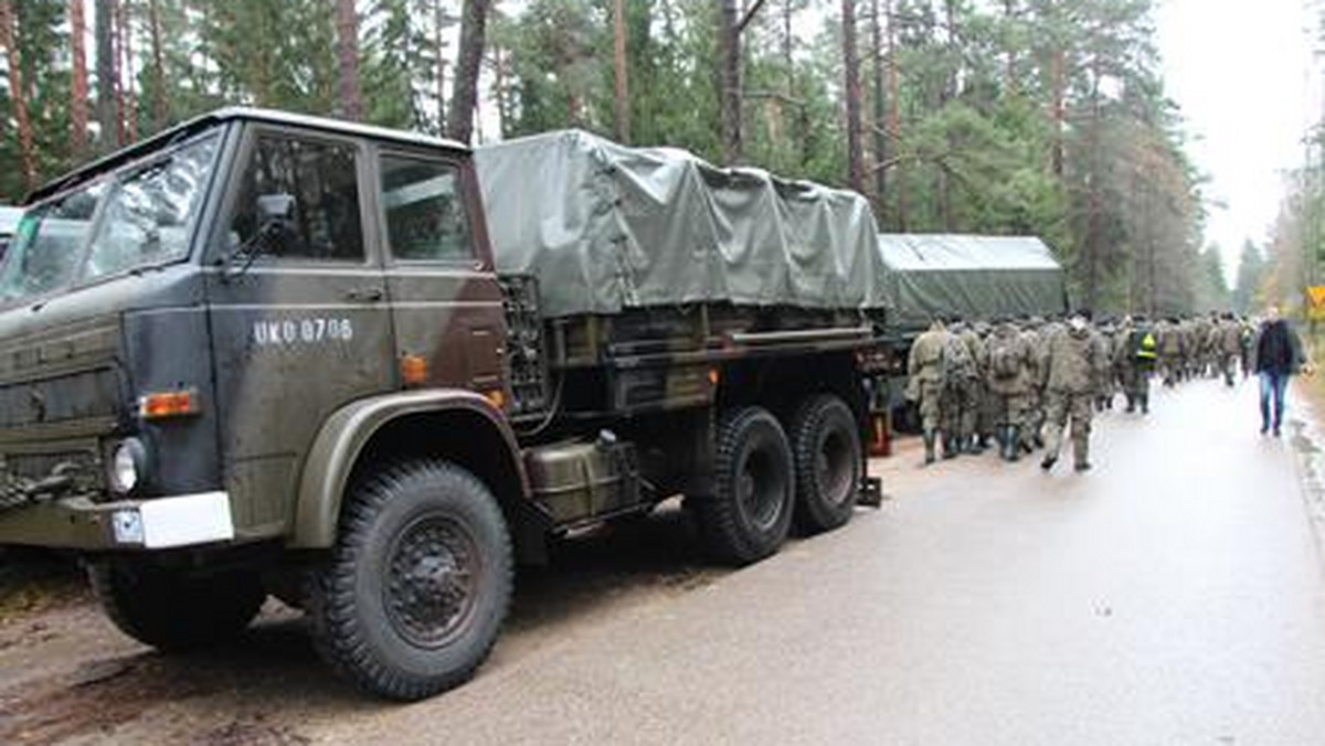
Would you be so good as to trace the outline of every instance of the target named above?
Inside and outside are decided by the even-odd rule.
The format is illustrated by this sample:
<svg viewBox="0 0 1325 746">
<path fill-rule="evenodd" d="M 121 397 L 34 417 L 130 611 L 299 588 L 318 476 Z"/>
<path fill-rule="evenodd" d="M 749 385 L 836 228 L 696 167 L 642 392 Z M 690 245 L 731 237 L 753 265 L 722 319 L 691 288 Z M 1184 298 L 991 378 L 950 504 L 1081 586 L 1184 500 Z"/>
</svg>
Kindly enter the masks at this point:
<svg viewBox="0 0 1325 746">
<path fill-rule="evenodd" d="M 363 261 L 356 148 L 351 144 L 261 135 L 240 183 L 232 241 L 248 241 L 258 229 L 257 199 L 295 199 L 293 235 L 269 252 L 281 257 Z"/>
</svg>

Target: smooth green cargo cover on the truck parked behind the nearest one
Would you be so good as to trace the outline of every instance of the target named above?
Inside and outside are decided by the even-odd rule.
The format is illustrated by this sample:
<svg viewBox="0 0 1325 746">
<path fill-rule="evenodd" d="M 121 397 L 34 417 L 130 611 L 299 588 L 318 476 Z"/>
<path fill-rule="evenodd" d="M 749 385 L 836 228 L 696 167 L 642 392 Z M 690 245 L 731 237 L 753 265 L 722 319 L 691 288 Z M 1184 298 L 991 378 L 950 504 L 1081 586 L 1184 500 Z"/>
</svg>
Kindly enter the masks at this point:
<svg viewBox="0 0 1325 746">
<path fill-rule="evenodd" d="M 1067 310 L 1063 268 L 1039 239 L 908 233 L 881 235 L 878 246 L 898 326 Z"/>
</svg>

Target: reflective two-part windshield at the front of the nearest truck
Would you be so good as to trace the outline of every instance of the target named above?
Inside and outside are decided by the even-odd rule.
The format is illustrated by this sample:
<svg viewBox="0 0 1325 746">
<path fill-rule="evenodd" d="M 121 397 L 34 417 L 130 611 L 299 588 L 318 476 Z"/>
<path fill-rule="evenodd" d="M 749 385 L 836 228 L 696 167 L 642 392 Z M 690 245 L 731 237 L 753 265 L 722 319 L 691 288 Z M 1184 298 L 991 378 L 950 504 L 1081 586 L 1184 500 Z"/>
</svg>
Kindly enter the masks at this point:
<svg viewBox="0 0 1325 746">
<path fill-rule="evenodd" d="M 195 140 L 25 212 L 0 269 L 0 301 L 186 257 L 217 140 Z"/>
</svg>

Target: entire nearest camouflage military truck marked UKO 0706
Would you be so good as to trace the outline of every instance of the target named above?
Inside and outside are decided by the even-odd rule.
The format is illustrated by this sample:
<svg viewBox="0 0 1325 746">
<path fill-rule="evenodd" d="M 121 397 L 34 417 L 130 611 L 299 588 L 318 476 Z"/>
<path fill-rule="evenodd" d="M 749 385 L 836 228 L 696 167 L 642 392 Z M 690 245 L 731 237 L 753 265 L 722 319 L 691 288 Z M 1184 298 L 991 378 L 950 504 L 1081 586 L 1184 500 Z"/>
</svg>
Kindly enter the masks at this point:
<svg viewBox="0 0 1325 746">
<path fill-rule="evenodd" d="M 0 543 L 80 553 L 166 651 L 276 595 L 415 700 L 472 676 L 556 537 L 684 496 L 743 564 L 877 496 L 859 196 L 579 133 L 480 160 L 486 193 L 454 142 L 231 109 L 33 193 Z"/>
</svg>

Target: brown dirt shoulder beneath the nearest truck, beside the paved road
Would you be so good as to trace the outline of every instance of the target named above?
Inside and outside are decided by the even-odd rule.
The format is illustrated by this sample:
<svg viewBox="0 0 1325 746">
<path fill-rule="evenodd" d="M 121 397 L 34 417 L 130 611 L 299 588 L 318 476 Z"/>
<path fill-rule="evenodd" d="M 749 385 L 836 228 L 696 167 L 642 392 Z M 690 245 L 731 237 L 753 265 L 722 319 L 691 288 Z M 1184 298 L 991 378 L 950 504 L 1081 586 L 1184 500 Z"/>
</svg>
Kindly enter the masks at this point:
<svg viewBox="0 0 1325 746">
<path fill-rule="evenodd" d="M 521 572 L 488 669 L 558 629 L 726 572 L 706 563 L 674 505 L 555 553 L 553 568 Z M 0 554 L 0 743 L 307 743 L 303 723 L 386 706 L 334 680 L 299 613 L 276 600 L 228 648 L 163 656 L 114 628 L 72 557 Z"/>
</svg>

